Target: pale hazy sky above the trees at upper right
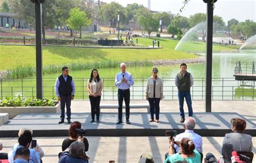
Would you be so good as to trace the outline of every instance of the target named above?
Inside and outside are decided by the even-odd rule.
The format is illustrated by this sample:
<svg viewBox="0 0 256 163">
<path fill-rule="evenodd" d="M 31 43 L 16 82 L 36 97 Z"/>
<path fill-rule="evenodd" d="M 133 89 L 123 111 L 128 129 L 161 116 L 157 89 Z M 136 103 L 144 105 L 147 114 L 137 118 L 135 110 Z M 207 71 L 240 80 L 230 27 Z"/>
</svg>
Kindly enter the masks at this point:
<svg viewBox="0 0 256 163">
<path fill-rule="evenodd" d="M 147 0 L 100 0 L 110 3 L 117 2 L 123 6 L 132 3 L 143 4 L 147 7 Z M 183 6 L 184 0 L 151 0 L 152 11 L 171 11 L 175 15 Z M 203 0 L 190 0 L 181 13 L 181 16 L 190 17 L 194 13 L 206 13 L 206 3 Z M 218 0 L 215 3 L 214 15 L 221 16 L 224 22 L 235 18 L 239 22 L 244 22 L 247 19 L 256 22 L 256 0 Z"/>
</svg>

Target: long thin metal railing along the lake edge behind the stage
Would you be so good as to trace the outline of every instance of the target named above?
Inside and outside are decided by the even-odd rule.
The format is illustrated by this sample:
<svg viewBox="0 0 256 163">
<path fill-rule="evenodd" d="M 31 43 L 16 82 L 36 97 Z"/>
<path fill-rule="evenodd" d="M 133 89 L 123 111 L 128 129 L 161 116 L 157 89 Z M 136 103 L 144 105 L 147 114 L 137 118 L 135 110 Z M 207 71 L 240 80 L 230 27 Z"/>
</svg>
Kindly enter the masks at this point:
<svg viewBox="0 0 256 163">
<path fill-rule="evenodd" d="M 53 78 L 43 79 L 44 98 L 56 98 L 55 80 Z M 73 78 L 76 85 L 76 99 L 87 99 L 87 80 L 85 78 Z M 117 100 L 117 87 L 114 79 L 103 78 L 104 87 L 102 91 L 103 100 Z M 162 78 L 164 97 L 167 100 L 177 100 L 178 89 L 174 78 Z M 147 78 L 135 78 L 131 90 L 131 100 L 145 99 L 145 88 Z M 18 95 L 28 98 L 36 96 L 36 79 L 0 79 L 0 98 L 17 97 Z M 205 79 L 194 78 L 194 86 L 191 87 L 193 100 L 204 100 Z M 255 81 L 236 81 L 234 78 L 212 79 L 212 100 L 255 100 Z"/>
</svg>

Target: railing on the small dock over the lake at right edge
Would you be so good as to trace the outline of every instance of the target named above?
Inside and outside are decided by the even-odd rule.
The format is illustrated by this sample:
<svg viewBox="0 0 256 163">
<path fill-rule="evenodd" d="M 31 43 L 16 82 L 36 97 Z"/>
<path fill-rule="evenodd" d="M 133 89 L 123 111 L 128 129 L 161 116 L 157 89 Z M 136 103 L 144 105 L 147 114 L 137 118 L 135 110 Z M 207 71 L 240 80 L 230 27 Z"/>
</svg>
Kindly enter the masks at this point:
<svg viewBox="0 0 256 163">
<path fill-rule="evenodd" d="M 237 62 L 234 68 L 234 74 L 255 75 L 254 61 L 252 63 Z"/>
</svg>

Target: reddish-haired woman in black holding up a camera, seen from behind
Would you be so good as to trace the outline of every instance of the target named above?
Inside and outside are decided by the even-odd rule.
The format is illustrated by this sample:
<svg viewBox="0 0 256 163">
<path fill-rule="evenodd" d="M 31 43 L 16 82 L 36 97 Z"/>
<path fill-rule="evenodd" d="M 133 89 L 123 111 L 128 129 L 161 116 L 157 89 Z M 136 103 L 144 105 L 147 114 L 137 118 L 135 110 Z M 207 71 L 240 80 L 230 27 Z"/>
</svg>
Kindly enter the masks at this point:
<svg viewBox="0 0 256 163">
<path fill-rule="evenodd" d="M 69 127 L 69 138 L 66 138 L 63 140 L 62 143 L 62 151 L 65 151 L 66 148 L 68 148 L 74 141 L 81 139 L 82 142 L 84 143 L 84 152 L 88 151 L 89 148 L 89 143 L 88 140 L 83 137 L 86 134 L 86 130 L 81 129 L 82 125 L 80 122 L 75 121 L 72 122 L 70 127 Z"/>
</svg>

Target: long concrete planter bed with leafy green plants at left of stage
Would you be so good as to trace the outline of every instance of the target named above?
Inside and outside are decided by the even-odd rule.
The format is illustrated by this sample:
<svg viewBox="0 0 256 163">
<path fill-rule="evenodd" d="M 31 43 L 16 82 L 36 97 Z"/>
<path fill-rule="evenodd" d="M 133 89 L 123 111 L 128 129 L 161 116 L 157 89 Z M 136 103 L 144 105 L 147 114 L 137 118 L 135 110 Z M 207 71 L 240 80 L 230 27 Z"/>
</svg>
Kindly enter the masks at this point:
<svg viewBox="0 0 256 163">
<path fill-rule="evenodd" d="M 58 113 L 60 103 L 53 100 L 39 100 L 35 98 L 22 99 L 18 96 L 14 100 L 6 97 L 0 100 L 0 113 L 8 113 L 9 119 L 23 113 Z"/>
</svg>

